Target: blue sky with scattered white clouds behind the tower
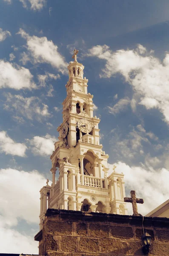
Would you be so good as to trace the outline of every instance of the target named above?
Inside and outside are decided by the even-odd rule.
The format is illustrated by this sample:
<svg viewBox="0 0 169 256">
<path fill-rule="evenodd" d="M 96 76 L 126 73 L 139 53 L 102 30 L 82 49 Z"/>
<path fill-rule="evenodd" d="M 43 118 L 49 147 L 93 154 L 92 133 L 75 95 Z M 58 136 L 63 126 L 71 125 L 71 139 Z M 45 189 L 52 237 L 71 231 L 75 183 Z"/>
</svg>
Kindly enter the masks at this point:
<svg viewBox="0 0 169 256">
<path fill-rule="evenodd" d="M 143 215 L 169 198 L 168 10 L 167 0 L 0 0 L 2 253 L 38 252 L 39 190 L 51 178 L 73 49 L 110 173 L 115 164 L 126 195 L 144 198 Z"/>
</svg>

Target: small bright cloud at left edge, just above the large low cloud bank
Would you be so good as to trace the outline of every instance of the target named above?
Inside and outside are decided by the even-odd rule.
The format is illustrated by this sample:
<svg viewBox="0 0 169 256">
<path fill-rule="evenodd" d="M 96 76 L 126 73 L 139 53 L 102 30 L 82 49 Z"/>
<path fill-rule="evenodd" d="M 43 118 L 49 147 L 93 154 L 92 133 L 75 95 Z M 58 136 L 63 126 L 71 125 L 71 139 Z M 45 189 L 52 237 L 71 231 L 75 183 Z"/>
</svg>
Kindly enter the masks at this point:
<svg viewBox="0 0 169 256">
<path fill-rule="evenodd" d="M 0 131 L 0 152 L 5 154 L 11 154 L 19 157 L 25 157 L 25 151 L 27 147 L 23 143 L 16 143 L 6 133 L 6 131 Z"/>
</svg>

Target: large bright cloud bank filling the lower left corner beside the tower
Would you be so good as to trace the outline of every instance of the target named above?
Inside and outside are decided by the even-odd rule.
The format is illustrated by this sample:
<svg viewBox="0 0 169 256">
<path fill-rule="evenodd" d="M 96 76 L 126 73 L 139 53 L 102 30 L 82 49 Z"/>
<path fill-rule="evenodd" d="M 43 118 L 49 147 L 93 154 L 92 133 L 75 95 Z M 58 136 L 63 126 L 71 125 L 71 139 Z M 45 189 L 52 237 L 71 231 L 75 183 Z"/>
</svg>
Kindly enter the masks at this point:
<svg viewBox="0 0 169 256">
<path fill-rule="evenodd" d="M 16 229 L 20 220 L 25 220 L 28 224 L 39 223 L 39 189 L 45 185 L 45 177 L 35 170 L 32 172 L 11 168 L 0 170 L 2 253 L 38 253 L 38 242 L 34 241 L 34 232 L 39 230 L 34 230 L 32 236 L 28 236 L 25 233 L 19 233 Z"/>
</svg>

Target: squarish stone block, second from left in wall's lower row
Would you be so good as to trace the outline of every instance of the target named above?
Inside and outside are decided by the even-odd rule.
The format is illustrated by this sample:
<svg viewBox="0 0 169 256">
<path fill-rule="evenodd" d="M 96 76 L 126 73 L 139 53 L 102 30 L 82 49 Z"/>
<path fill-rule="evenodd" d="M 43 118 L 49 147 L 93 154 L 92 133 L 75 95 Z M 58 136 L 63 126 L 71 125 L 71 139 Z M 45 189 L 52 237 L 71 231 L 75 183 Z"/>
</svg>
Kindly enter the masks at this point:
<svg viewBox="0 0 169 256">
<path fill-rule="evenodd" d="M 76 252 L 77 251 L 77 237 L 62 236 L 61 250 L 63 252 Z"/>
</svg>

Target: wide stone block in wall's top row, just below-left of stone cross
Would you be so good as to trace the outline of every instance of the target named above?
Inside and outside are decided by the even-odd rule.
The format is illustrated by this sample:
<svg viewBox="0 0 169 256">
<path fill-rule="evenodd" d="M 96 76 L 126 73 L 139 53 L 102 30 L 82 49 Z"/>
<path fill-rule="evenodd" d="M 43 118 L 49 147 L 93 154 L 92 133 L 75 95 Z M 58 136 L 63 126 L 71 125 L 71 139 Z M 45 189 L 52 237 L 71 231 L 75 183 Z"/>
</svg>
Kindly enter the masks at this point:
<svg viewBox="0 0 169 256">
<path fill-rule="evenodd" d="M 116 239 L 133 239 L 134 232 L 132 227 L 125 227 L 125 226 L 110 226 L 110 234 L 112 238 Z"/>
</svg>

